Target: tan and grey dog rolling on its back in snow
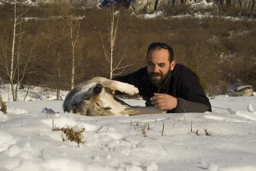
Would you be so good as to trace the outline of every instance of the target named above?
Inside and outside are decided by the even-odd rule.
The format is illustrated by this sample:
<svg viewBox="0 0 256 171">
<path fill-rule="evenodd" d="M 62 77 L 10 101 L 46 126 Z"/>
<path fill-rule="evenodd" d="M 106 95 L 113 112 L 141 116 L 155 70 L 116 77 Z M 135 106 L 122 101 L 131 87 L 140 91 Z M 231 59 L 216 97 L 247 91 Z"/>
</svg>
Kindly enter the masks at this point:
<svg viewBox="0 0 256 171">
<path fill-rule="evenodd" d="M 128 115 L 166 113 L 166 110 L 160 110 L 157 107 L 133 107 L 117 99 L 113 94 L 106 91 L 105 87 L 129 95 L 139 93 L 137 87 L 131 84 L 95 77 L 79 84 L 68 93 L 63 104 L 64 112 L 85 116 L 114 116 L 114 113 Z"/>
</svg>

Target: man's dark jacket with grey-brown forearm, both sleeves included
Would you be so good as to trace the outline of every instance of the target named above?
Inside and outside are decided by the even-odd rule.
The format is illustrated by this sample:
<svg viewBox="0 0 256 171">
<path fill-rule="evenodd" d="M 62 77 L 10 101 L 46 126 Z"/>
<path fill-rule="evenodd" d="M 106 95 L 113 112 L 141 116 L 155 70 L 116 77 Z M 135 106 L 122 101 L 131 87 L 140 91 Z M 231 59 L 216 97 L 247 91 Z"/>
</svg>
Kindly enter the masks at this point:
<svg viewBox="0 0 256 171">
<path fill-rule="evenodd" d="M 146 101 L 146 106 L 152 106 L 150 98 L 154 93 L 165 93 L 177 98 L 177 107 L 173 110 L 168 110 L 168 113 L 203 113 L 212 111 L 211 104 L 203 88 L 198 80 L 198 77 L 189 68 L 176 64 L 169 77 L 160 88 L 154 87 L 148 80 L 147 68 L 128 75 L 118 76 L 113 80 L 132 84 L 140 91 L 140 96 Z M 122 94 L 116 91 L 117 94 Z"/>
</svg>

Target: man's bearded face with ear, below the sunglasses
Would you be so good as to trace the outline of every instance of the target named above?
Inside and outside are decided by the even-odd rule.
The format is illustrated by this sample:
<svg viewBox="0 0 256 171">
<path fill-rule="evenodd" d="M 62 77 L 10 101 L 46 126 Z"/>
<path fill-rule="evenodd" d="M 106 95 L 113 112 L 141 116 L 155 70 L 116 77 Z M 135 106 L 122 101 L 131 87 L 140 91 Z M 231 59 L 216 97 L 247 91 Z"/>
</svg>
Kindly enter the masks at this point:
<svg viewBox="0 0 256 171">
<path fill-rule="evenodd" d="M 167 49 L 150 50 L 147 58 L 147 72 L 151 84 L 160 87 L 171 70 L 174 69 L 176 62 L 168 61 L 169 52 Z"/>
</svg>

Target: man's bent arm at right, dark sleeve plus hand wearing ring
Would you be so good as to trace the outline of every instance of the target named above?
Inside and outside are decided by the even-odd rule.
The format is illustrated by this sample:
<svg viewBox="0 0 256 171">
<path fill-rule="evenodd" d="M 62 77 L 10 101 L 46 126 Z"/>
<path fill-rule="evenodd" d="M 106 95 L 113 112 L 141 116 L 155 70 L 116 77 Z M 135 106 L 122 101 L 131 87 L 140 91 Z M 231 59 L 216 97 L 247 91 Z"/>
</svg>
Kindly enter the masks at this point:
<svg viewBox="0 0 256 171">
<path fill-rule="evenodd" d="M 177 81 L 177 98 L 169 94 L 154 93 L 151 104 L 168 113 L 204 113 L 211 111 L 211 104 L 204 93 L 198 77 L 193 72 L 188 72 L 186 78 L 180 75 Z"/>
</svg>

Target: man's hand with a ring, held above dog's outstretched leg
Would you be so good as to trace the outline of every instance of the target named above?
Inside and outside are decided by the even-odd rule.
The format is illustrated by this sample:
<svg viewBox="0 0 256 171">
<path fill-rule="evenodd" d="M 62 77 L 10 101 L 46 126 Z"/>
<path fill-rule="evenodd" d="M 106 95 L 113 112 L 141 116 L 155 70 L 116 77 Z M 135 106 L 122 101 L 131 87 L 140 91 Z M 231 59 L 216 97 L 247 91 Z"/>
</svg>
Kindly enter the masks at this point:
<svg viewBox="0 0 256 171">
<path fill-rule="evenodd" d="M 168 94 L 154 93 L 150 100 L 151 104 L 154 104 L 155 107 L 159 107 L 161 110 L 172 110 L 177 107 L 177 99 Z"/>
</svg>

